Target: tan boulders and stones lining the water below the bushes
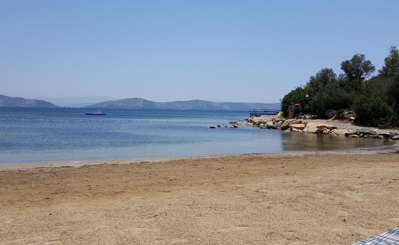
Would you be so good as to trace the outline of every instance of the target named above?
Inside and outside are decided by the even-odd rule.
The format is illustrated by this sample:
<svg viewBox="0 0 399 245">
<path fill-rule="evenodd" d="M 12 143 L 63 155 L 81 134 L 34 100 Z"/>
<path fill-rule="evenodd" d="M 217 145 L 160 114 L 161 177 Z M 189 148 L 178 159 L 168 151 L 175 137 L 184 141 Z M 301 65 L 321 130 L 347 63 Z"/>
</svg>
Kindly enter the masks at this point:
<svg viewBox="0 0 399 245">
<path fill-rule="evenodd" d="M 381 131 L 373 129 L 369 131 L 356 131 L 352 129 L 339 129 L 335 125 L 321 122 L 306 122 L 304 120 L 284 119 L 281 112 L 275 117 L 251 117 L 246 119 L 247 122 L 231 121 L 233 126 L 254 126 L 261 129 L 280 129 L 290 132 L 299 133 L 318 133 L 324 135 L 347 136 L 347 137 L 364 137 L 373 139 L 389 139 L 399 140 L 399 133 L 392 131 Z M 231 126 L 231 128 L 233 128 Z"/>
</svg>

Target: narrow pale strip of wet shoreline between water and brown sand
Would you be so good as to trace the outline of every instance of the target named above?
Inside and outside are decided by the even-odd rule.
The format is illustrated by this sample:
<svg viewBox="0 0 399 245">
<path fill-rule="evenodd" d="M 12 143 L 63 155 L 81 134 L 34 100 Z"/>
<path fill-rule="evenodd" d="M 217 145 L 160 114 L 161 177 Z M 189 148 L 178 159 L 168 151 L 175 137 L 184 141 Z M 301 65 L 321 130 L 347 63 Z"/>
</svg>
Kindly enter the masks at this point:
<svg viewBox="0 0 399 245">
<path fill-rule="evenodd" d="M 142 164 L 142 163 L 164 163 L 178 160 L 193 160 L 193 159 L 214 159 L 219 157 L 238 157 L 247 155 L 262 155 L 262 156 L 303 156 L 306 154 L 325 154 L 325 155 L 377 155 L 377 154 L 395 154 L 399 153 L 399 144 L 395 143 L 391 146 L 376 147 L 376 148 L 359 148 L 346 150 L 325 150 L 325 151 L 292 151 L 292 152 L 277 152 L 277 153 L 245 153 L 245 154 L 226 154 L 226 155 L 195 155 L 195 156 L 180 156 L 180 157 L 154 157 L 144 159 L 100 159 L 90 161 L 49 161 L 49 162 L 26 162 L 26 163 L 0 163 L 0 172 L 13 171 L 21 169 L 34 168 L 67 168 L 67 167 L 85 167 L 91 165 L 122 165 L 122 164 Z"/>
</svg>

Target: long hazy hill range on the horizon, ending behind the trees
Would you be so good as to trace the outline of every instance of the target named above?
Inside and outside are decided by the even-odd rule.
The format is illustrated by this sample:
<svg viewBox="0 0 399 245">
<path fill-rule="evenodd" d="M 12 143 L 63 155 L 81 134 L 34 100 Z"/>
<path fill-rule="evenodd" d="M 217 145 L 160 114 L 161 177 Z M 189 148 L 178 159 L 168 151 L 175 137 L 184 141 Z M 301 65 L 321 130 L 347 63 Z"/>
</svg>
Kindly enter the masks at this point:
<svg viewBox="0 0 399 245">
<path fill-rule="evenodd" d="M 280 110 L 280 103 L 242 103 L 242 102 L 212 102 L 207 100 L 187 100 L 172 102 L 153 102 L 142 98 L 109 100 L 86 108 L 125 108 L 125 109 L 191 109 L 191 110 L 249 110 L 275 109 Z"/>
</svg>

